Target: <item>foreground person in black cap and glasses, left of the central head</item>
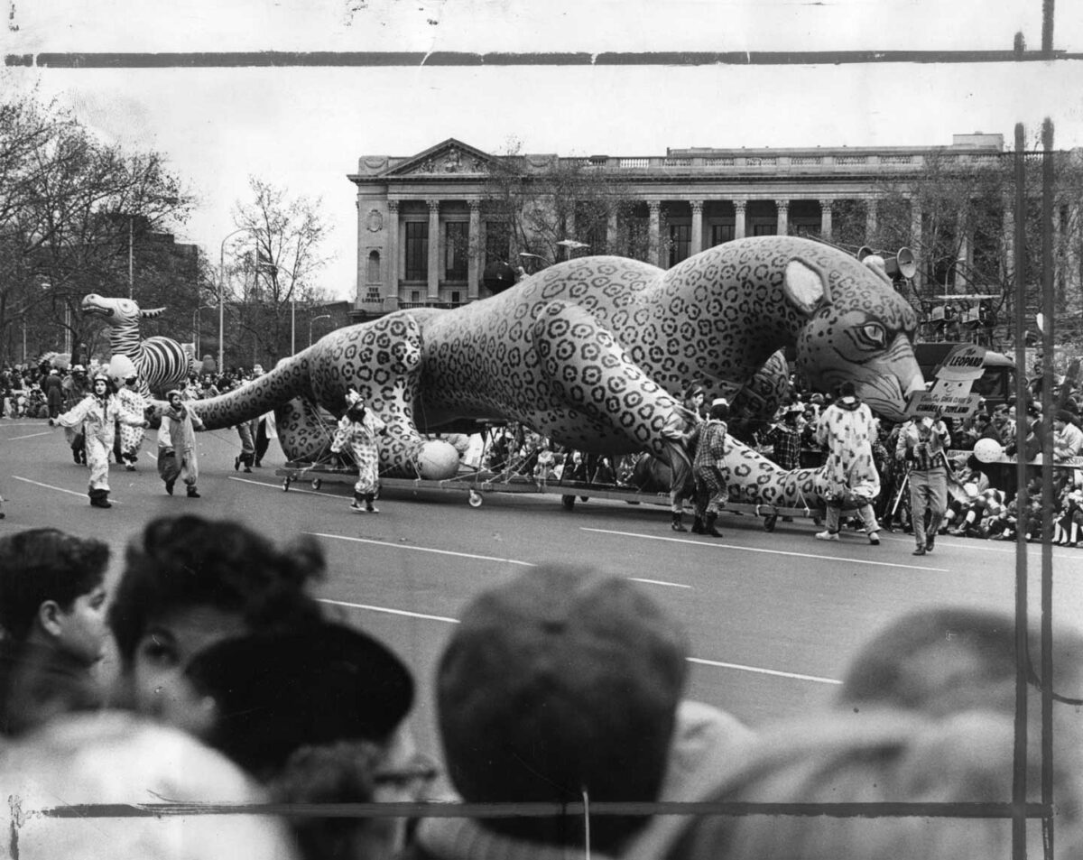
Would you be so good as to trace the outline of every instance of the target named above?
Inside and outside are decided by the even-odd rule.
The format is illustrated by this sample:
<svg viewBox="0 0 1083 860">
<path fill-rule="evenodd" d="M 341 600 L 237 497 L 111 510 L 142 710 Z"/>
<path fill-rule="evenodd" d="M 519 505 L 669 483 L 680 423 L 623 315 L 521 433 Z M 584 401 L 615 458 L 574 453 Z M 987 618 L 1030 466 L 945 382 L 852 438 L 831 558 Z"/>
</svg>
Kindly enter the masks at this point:
<svg viewBox="0 0 1083 860">
<path fill-rule="evenodd" d="M 342 624 L 224 639 L 186 670 L 209 700 L 203 739 L 284 804 L 416 803 L 439 771 L 406 717 L 409 669 Z M 305 860 L 397 857 L 404 818 L 289 818 Z"/>
</svg>

